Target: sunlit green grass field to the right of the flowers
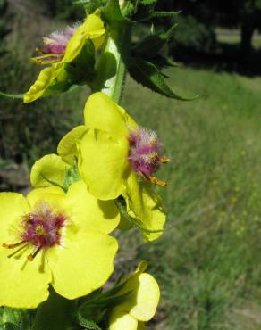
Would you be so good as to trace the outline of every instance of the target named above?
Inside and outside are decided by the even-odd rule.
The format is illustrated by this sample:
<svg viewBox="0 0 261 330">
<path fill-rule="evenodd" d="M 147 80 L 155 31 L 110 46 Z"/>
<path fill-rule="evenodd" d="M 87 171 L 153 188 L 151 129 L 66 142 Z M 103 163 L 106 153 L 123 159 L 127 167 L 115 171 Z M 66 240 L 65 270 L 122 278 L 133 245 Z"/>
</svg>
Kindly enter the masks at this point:
<svg viewBox="0 0 261 330">
<path fill-rule="evenodd" d="M 259 329 L 261 78 L 169 73 L 173 88 L 198 100 L 171 101 L 129 80 L 123 102 L 156 129 L 173 160 L 158 174 L 169 183 L 158 189 L 165 234 L 142 244 L 134 231 L 122 241 L 136 246 L 136 260 L 148 260 L 161 285 L 156 330 Z"/>
</svg>

